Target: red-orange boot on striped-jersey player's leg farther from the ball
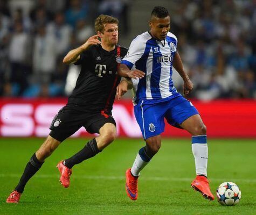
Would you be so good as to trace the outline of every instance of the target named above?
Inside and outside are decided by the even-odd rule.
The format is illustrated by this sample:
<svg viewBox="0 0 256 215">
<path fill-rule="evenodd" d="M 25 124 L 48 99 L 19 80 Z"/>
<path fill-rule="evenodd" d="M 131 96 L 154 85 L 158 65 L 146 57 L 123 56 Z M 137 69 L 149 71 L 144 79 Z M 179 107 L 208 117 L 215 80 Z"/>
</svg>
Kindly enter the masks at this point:
<svg viewBox="0 0 256 215">
<path fill-rule="evenodd" d="M 136 200 L 138 197 L 138 177 L 134 177 L 130 173 L 130 169 L 126 170 L 126 192 L 130 199 Z"/>
</svg>

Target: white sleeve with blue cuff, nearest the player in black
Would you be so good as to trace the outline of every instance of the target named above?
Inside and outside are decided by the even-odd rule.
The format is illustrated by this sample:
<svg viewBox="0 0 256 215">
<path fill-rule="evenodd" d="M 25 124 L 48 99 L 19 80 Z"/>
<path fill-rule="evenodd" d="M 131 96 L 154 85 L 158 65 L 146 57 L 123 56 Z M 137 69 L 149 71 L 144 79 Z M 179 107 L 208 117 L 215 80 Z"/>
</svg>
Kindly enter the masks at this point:
<svg viewBox="0 0 256 215">
<path fill-rule="evenodd" d="M 140 38 L 136 38 L 130 44 L 129 50 L 121 61 L 122 64 L 131 69 L 133 65 L 142 57 L 145 49 L 145 43 Z"/>
</svg>

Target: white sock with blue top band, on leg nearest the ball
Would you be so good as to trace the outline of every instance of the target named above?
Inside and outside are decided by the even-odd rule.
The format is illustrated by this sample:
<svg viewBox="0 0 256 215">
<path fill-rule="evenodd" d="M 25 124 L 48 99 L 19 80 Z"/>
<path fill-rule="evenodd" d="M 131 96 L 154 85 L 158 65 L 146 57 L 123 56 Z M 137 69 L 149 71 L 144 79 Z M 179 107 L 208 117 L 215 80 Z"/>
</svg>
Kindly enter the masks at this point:
<svg viewBox="0 0 256 215">
<path fill-rule="evenodd" d="M 192 137 L 192 152 L 195 157 L 196 174 L 207 176 L 208 146 L 206 135 Z"/>
</svg>

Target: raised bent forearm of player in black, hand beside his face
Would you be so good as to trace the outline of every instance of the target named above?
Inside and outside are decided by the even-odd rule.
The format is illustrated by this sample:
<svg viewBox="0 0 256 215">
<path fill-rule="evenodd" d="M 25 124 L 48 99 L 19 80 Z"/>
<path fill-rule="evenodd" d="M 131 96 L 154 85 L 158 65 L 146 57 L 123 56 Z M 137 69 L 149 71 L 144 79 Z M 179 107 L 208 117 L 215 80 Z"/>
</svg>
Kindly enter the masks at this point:
<svg viewBox="0 0 256 215">
<path fill-rule="evenodd" d="M 80 54 L 88 49 L 92 45 L 100 44 L 100 40 L 98 40 L 99 35 L 94 35 L 90 37 L 83 45 L 79 46 L 78 48 L 72 49 L 70 52 L 67 53 L 63 62 L 66 64 L 75 63 L 80 59 Z"/>
</svg>

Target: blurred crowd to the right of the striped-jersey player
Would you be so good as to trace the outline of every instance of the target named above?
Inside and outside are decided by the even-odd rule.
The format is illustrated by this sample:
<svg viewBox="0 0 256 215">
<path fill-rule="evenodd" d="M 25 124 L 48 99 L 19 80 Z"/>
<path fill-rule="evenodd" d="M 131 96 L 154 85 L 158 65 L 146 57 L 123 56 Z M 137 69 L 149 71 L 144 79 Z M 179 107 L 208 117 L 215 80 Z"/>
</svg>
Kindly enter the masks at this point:
<svg viewBox="0 0 256 215">
<path fill-rule="evenodd" d="M 171 31 L 195 87 L 191 97 L 256 99 L 256 1 L 174 2 Z"/>
</svg>

